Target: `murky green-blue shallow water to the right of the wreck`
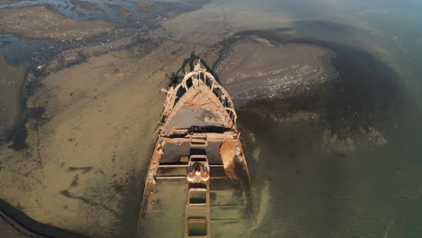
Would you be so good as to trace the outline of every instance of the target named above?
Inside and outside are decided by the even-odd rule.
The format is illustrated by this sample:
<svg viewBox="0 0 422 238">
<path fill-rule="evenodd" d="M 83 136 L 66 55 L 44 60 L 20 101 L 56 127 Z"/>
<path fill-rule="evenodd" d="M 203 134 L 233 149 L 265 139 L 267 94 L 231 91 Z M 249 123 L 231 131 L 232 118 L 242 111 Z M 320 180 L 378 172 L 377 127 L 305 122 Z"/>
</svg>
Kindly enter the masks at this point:
<svg viewBox="0 0 422 238">
<path fill-rule="evenodd" d="M 240 113 L 243 134 L 251 133 L 254 141 L 247 149 L 253 158 L 252 181 L 258 189 L 270 184 L 271 212 L 256 237 L 420 237 L 421 71 L 414 66 L 420 62 L 416 35 L 420 35 L 421 18 L 408 9 L 415 3 L 407 7 L 406 2 L 400 3 L 399 9 L 372 5 L 375 9 L 368 10 L 368 5 L 349 2 L 337 5 L 338 12 L 330 5 L 308 4 L 274 4 L 318 19 L 298 21 L 295 37 L 278 38 L 334 50 L 338 55 L 334 65 L 344 85 L 335 86 L 341 89 L 337 94 L 326 91 L 290 101 L 257 102 Z M 328 11 L 333 12 L 321 17 Z M 362 14 L 359 19 L 353 16 Z M 379 14 L 383 16 L 374 21 L 372 17 Z M 409 24 L 418 27 L 403 34 L 411 15 Z M 395 25 L 389 25 L 397 18 Z M 332 19 L 342 19 L 341 24 L 329 22 Z M 400 23 L 404 29 L 398 31 Z M 357 27 L 362 24 L 365 27 Z M 277 110 L 286 104 L 287 110 Z M 326 117 L 316 123 L 278 123 L 261 116 L 262 107 L 268 107 L 275 118 L 309 107 Z M 353 138 L 357 124 L 383 128 L 389 142 L 381 146 L 365 142 L 367 146 L 350 151 L 325 150 L 322 138 L 327 128 L 339 138 Z"/>
</svg>

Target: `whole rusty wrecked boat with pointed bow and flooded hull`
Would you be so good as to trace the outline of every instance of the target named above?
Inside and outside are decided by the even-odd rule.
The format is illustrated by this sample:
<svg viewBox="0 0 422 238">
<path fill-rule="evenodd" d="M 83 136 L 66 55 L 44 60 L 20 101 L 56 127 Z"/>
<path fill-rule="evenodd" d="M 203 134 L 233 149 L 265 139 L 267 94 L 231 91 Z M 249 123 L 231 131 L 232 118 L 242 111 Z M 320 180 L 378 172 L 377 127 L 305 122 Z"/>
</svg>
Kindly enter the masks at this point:
<svg viewBox="0 0 422 238">
<path fill-rule="evenodd" d="M 254 208 L 232 99 L 200 61 L 163 91 L 141 237 L 244 237 Z"/>
</svg>

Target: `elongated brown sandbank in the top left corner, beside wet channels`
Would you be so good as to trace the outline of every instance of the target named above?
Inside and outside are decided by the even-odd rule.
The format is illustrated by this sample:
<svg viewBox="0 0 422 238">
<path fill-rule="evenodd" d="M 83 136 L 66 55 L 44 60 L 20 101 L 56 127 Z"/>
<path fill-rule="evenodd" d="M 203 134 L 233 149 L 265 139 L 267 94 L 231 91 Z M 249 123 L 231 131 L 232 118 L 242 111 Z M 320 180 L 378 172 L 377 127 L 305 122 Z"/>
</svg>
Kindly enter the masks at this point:
<svg viewBox="0 0 422 238">
<path fill-rule="evenodd" d="M 78 22 L 45 6 L 0 9 L 0 32 L 56 41 L 84 40 L 108 32 L 112 23 Z"/>
</svg>

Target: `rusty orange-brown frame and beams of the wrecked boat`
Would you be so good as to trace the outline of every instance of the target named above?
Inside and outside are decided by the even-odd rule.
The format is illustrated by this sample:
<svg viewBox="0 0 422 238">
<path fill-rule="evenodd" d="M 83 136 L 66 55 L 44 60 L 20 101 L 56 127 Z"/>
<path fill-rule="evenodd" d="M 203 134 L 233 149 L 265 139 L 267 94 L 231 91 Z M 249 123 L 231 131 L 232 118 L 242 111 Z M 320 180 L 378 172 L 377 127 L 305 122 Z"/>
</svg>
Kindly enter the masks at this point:
<svg viewBox="0 0 422 238">
<path fill-rule="evenodd" d="M 179 90 L 184 91 L 181 95 L 178 97 Z M 164 148 L 166 144 L 174 143 L 174 144 L 181 144 L 188 142 L 190 145 L 190 148 L 196 148 L 196 147 L 204 147 L 206 148 L 207 145 L 210 142 L 221 142 L 222 146 L 220 147 L 220 154 L 222 156 L 223 164 L 221 165 L 210 165 L 211 168 L 215 167 L 223 167 L 225 169 L 225 174 L 227 178 L 230 178 L 231 180 L 238 180 L 238 177 L 236 175 L 236 172 L 240 170 L 243 171 L 245 176 L 248 178 L 247 187 L 246 189 L 249 189 L 250 192 L 250 181 L 249 181 L 249 171 L 247 168 L 246 160 L 244 158 L 243 154 L 243 148 L 242 143 L 240 141 L 240 133 L 237 131 L 236 128 L 236 120 L 237 120 L 237 114 L 234 110 L 234 104 L 231 99 L 231 97 L 228 95 L 228 93 L 225 91 L 225 88 L 222 87 L 217 81 L 216 78 L 213 77 L 213 75 L 206 71 L 206 69 L 201 68 L 200 61 L 195 66 L 194 70 L 192 72 L 189 72 L 185 75 L 185 77 L 181 80 L 179 85 L 176 87 L 169 87 L 168 90 L 162 89 L 162 91 L 167 93 L 166 101 L 164 103 L 164 109 L 162 112 L 161 117 L 161 125 L 160 125 L 160 133 L 159 138 L 156 142 L 154 151 L 152 153 L 150 168 L 148 169 L 147 179 L 145 181 L 145 188 L 144 188 L 144 194 L 142 199 L 142 206 L 141 206 L 141 217 L 143 215 L 148 214 L 149 209 L 152 209 L 149 205 L 149 201 L 153 200 L 152 197 L 154 197 L 154 194 L 156 191 L 156 185 L 158 180 L 164 179 L 159 178 L 156 176 L 157 171 L 161 167 L 169 167 L 168 165 L 160 165 L 160 160 L 162 155 L 165 153 Z M 195 95 L 198 91 L 203 93 L 204 95 L 199 96 Z M 192 133 L 189 132 L 186 128 L 167 128 L 167 126 L 170 124 L 173 117 L 178 114 L 179 109 L 181 106 L 189 104 L 187 101 L 187 98 L 191 98 L 189 96 L 194 96 L 194 100 L 198 100 L 197 103 L 201 105 L 201 108 L 205 108 L 209 111 L 218 111 L 224 116 L 224 132 L 220 133 L 211 133 L 211 132 L 205 132 L 205 133 Z M 206 100 L 205 103 L 204 100 Z M 211 103 L 208 103 L 211 102 Z M 203 103 L 203 104 L 201 104 Z M 208 106 L 208 107 L 206 107 Z M 178 136 L 174 136 L 174 135 Z M 223 149 L 224 150 L 223 150 Z M 227 152 L 228 151 L 228 152 Z M 189 159 L 190 161 L 190 159 Z M 173 167 L 176 167 L 174 165 Z M 185 167 L 185 165 L 177 165 L 177 167 Z M 188 169 L 188 166 L 186 166 Z M 180 178 L 186 178 L 183 176 L 175 176 L 175 177 L 169 177 L 166 179 L 180 179 Z M 188 184 L 188 181 L 187 181 Z M 192 206 L 187 204 L 186 205 L 186 213 L 190 213 L 192 211 L 192 207 L 196 207 L 195 209 L 198 209 L 198 207 L 203 207 L 201 209 L 207 209 L 205 210 L 204 218 L 207 221 L 207 234 L 204 237 L 210 237 L 210 223 L 211 221 L 211 215 L 210 215 L 210 188 L 209 188 L 209 180 L 204 183 L 204 186 L 207 190 L 207 197 L 206 197 L 206 205 L 204 206 Z M 189 188 L 192 189 L 192 188 Z M 188 194 L 187 194 L 188 196 Z M 253 210 L 254 205 L 252 202 Z M 195 210 L 194 209 L 194 210 Z M 188 222 L 192 219 L 186 217 L 187 224 L 186 228 L 188 228 Z M 216 222 L 216 221 L 215 221 Z M 224 222 L 224 221 L 220 221 Z M 188 237 L 187 230 L 185 230 L 185 237 Z"/>
</svg>

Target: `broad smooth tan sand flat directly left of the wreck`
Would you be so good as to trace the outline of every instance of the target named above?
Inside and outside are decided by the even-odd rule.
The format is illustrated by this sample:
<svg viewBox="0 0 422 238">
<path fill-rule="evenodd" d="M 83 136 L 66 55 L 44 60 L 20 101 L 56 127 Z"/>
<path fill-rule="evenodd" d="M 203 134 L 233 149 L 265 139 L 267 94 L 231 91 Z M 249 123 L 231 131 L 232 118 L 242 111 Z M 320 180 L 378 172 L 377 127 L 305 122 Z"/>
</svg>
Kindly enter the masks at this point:
<svg viewBox="0 0 422 238">
<path fill-rule="evenodd" d="M 106 54 L 42 81 L 44 90 L 28 105 L 46 106 L 50 120 L 30 122 L 29 154 L 4 161 L 1 197 L 22 204 L 41 223 L 115 236 L 124 212 L 124 197 L 116 189 L 133 182 L 150 156 L 151 125 L 161 112 L 161 106 L 151 105 L 161 105 L 163 79 L 142 85 L 145 78 L 133 73 L 145 72 L 128 56 L 127 51 Z M 14 179 L 19 180 L 14 188 L 5 189 Z"/>
</svg>

